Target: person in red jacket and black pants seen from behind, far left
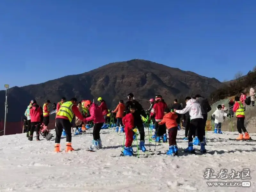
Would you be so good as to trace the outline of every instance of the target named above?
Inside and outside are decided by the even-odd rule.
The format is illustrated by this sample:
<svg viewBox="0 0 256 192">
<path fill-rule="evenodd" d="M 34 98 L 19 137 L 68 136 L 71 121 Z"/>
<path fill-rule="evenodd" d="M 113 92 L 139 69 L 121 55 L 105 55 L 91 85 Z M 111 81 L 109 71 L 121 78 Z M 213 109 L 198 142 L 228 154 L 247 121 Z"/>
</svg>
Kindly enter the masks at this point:
<svg viewBox="0 0 256 192">
<path fill-rule="evenodd" d="M 39 141 L 39 129 L 41 125 L 41 115 L 43 114 L 42 109 L 37 105 L 36 100 L 31 100 L 32 106 L 29 108 L 29 116 L 31 120 L 31 129 L 29 133 L 28 140 L 33 140 L 33 134 L 36 130 L 36 140 Z"/>
</svg>

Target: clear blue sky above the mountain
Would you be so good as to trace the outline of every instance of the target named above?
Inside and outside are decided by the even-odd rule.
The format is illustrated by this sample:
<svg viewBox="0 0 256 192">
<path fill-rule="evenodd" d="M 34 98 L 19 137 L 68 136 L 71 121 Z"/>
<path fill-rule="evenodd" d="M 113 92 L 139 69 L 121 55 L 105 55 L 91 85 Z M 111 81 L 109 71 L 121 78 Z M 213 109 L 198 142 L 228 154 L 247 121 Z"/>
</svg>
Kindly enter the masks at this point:
<svg viewBox="0 0 256 192">
<path fill-rule="evenodd" d="M 256 64 L 255 0 L 1 0 L 0 89 L 134 58 L 229 80 Z"/>
</svg>

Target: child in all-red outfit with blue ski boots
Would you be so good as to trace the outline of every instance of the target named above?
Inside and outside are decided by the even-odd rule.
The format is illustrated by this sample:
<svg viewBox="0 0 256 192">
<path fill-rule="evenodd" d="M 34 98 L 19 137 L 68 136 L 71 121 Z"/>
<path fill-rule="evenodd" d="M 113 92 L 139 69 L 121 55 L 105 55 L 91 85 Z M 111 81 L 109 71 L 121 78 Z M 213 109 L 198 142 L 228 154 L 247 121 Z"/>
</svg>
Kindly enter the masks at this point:
<svg viewBox="0 0 256 192">
<path fill-rule="evenodd" d="M 124 124 L 125 137 L 126 137 L 124 151 L 123 151 L 124 156 L 132 156 L 133 154 L 133 149 L 132 149 L 132 141 L 133 141 L 132 129 L 134 128 L 133 113 L 135 112 L 136 108 L 134 106 L 130 106 L 129 109 L 130 109 L 130 113 L 125 115 L 122 120 Z"/>
</svg>

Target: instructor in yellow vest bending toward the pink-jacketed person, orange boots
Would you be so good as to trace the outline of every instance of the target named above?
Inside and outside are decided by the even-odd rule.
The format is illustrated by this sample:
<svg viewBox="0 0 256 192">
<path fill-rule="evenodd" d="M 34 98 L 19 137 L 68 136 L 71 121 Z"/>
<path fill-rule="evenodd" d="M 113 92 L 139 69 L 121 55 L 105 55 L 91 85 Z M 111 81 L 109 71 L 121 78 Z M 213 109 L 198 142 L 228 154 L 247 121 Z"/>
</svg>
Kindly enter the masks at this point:
<svg viewBox="0 0 256 192">
<path fill-rule="evenodd" d="M 74 116 L 78 117 L 81 121 L 86 124 L 86 118 L 79 112 L 76 105 L 76 98 L 72 98 L 70 101 L 63 103 L 56 116 L 56 138 L 55 138 L 55 152 L 60 152 L 60 138 L 62 130 L 66 132 L 66 152 L 73 151 L 71 145 L 71 128 L 72 119 Z"/>
</svg>

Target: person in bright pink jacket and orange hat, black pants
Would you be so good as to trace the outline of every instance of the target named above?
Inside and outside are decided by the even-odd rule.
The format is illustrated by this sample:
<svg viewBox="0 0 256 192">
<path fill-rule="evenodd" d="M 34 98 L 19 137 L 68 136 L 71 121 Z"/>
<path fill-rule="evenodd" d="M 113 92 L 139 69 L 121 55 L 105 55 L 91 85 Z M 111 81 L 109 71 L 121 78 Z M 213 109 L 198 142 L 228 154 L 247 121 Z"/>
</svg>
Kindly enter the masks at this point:
<svg viewBox="0 0 256 192">
<path fill-rule="evenodd" d="M 94 123 L 93 132 L 92 132 L 93 140 L 92 140 L 92 145 L 89 147 L 89 150 L 101 149 L 102 144 L 100 140 L 100 129 L 105 122 L 104 116 L 102 114 L 102 110 L 97 104 L 92 102 L 88 103 L 86 107 L 89 108 L 90 115 L 91 115 L 89 117 L 86 117 L 86 121 L 88 122 L 93 120 L 93 123 Z"/>
</svg>

